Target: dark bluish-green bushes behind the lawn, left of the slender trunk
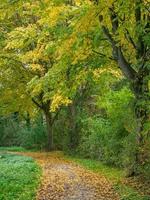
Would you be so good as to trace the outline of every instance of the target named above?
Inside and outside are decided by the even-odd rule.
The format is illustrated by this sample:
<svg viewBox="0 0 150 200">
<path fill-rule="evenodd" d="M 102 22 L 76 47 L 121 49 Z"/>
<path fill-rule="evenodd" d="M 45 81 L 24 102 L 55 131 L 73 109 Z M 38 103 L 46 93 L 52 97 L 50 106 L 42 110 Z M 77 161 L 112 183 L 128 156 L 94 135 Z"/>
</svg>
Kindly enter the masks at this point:
<svg viewBox="0 0 150 200">
<path fill-rule="evenodd" d="M 37 116 L 28 127 L 23 120 L 13 117 L 1 120 L 0 146 L 22 146 L 29 149 L 45 149 L 47 145 L 46 127 Z"/>
</svg>

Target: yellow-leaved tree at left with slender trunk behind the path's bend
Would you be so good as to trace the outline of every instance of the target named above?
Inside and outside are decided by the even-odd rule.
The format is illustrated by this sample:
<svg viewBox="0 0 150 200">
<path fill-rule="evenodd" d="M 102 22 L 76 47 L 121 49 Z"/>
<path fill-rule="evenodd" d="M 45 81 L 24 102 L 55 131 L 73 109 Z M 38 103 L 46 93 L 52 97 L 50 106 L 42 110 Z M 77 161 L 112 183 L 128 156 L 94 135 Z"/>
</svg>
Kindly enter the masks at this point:
<svg viewBox="0 0 150 200">
<path fill-rule="evenodd" d="M 56 5 L 53 7 L 53 3 L 47 3 L 46 1 L 43 3 L 39 1 L 35 1 L 34 3 L 30 1 L 27 3 L 16 1 L 13 3 L 13 7 L 18 4 L 19 11 L 21 10 L 20 12 L 14 11 L 8 13 L 8 15 L 10 14 L 7 19 L 8 22 L 15 25 L 12 26 L 10 30 L 7 30 L 8 33 L 5 38 L 6 45 L 3 46 L 3 54 L 1 55 L 2 62 L 3 64 L 5 63 L 4 66 L 7 66 L 8 69 L 15 74 L 17 81 L 13 80 L 12 74 L 7 74 L 6 79 L 1 79 L 1 82 L 6 86 L 8 82 L 7 79 L 13 80 L 15 83 L 15 90 L 11 87 L 11 93 L 16 95 L 17 88 L 19 95 L 21 95 L 19 87 L 22 78 L 25 77 L 22 90 L 26 94 L 26 97 L 29 97 L 38 109 L 44 112 L 48 133 L 48 150 L 52 150 L 52 126 L 58 115 L 57 112 L 56 115 L 54 113 L 55 107 L 58 107 L 57 104 L 66 105 L 70 103 L 69 99 L 63 97 L 59 92 L 58 81 L 59 79 L 61 80 L 61 73 L 59 73 L 60 76 L 58 78 L 58 70 L 57 68 L 55 70 L 53 67 L 55 61 L 55 46 L 57 45 L 58 39 L 56 35 L 54 35 L 54 30 L 57 28 L 55 28 L 58 20 L 57 17 L 62 12 L 64 5 Z M 9 9 L 12 6 L 10 3 L 5 2 L 3 8 L 5 8 L 6 5 Z M 53 12 L 49 15 L 49 9 L 52 7 L 54 8 Z M 42 14 L 43 10 L 46 12 L 46 17 Z M 47 21 L 49 19 L 51 19 L 50 23 Z M 4 25 L 6 24 L 5 17 L 3 23 Z M 2 27 L 4 27 L 4 25 L 2 25 Z M 11 64 L 8 60 L 11 61 Z M 19 69 L 21 69 L 19 73 L 17 63 Z M 49 85 L 47 85 L 47 76 L 49 77 Z M 12 85 L 12 82 L 9 83 L 9 86 L 10 84 Z M 2 90 L 6 91 L 4 88 L 2 88 Z M 18 98 L 21 100 L 20 97 Z M 26 99 L 22 101 L 22 105 L 24 106 L 25 103 Z"/>
</svg>

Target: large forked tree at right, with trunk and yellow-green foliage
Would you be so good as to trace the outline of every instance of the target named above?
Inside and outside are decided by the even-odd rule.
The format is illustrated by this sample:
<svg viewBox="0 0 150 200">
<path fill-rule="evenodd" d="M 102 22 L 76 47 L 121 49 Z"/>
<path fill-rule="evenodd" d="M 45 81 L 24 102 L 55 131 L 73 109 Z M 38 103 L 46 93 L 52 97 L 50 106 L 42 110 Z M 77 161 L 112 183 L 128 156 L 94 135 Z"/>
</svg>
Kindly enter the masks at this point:
<svg viewBox="0 0 150 200">
<path fill-rule="evenodd" d="M 143 156 L 142 152 L 150 131 L 148 125 L 150 119 L 149 6 L 149 2 L 144 0 L 134 2 L 102 0 L 91 1 L 91 3 L 86 1 L 79 8 L 81 12 L 85 8 L 86 12 L 84 10 L 80 21 L 74 26 L 74 33 L 70 36 L 70 41 L 72 41 L 70 47 L 78 44 L 73 62 L 81 63 L 82 54 L 84 54 L 83 59 L 87 60 L 94 52 L 99 55 L 101 62 L 104 61 L 103 65 L 106 66 L 109 63 L 111 67 L 118 66 L 131 85 L 135 96 L 137 151 L 130 175 L 138 173 L 137 168 L 146 163 L 148 156 Z M 98 31 L 97 27 L 99 27 Z M 99 35 L 99 41 L 97 40 L 97 44 L 94 45 L 92 43 L 94 38 L 90 34 L 92 31 Z M 81 38 L 77 35 L 84 37 L 82 45 L 79 43 Z"/>
</svg>

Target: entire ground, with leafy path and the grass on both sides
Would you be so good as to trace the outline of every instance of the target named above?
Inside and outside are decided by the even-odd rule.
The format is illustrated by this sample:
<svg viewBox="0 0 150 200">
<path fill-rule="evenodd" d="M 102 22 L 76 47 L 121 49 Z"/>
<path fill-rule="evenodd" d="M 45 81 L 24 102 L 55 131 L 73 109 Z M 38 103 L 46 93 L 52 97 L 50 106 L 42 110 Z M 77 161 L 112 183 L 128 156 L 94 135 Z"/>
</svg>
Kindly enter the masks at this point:
<svg viewBox="0 0 150 200">
<path fill-rule="evenodd" d="M 2 147 L 0 155 L 1 173 L 4 176 L 0 184 L 0 200 L 16 199 L 14 195 L 19 195 L 18 200 L 31 200 L 34 198 L 24 198 L 24 195 L 30 196 L 32 193 L 35 196 L 36 192 L 36 200 L 150 200 L 149 181 L 141 177 L 125 178 L 124 170 L 100 161 L 65 156 L 63 152 L 29 152 L 20 147 Z M 32 161 L 31 166 L 35 166 L 33 170 L 32 167 L 30 170 L 29 160 Z M 32 178 L 32 174 L 36 178 Z M 22 176 L 25 178 L 20 178 Z M 38 177 L 41 177 L 40 180 Z M 27 182 L 32 187 L 26 185 Z M 28 189 L 26 186 L 29 186 Z M 8 189 L 12 192 L 8 193 Z"/>
</svg>

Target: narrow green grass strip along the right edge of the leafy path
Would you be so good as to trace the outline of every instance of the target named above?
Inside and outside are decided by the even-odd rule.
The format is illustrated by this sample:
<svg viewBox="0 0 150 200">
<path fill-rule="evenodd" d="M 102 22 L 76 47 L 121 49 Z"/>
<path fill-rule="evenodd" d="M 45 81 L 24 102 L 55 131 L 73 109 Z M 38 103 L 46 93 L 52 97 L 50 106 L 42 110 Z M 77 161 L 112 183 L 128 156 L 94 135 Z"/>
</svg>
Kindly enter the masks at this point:
<svg viewBox="0 0 150 200">
<path fill-rule="evenodd" d="M 103 174 L 113 184 L 114 189 L 120 195 L 120 200 L 150 200 L 150 196 L 142 196 L 135 189 L 123 184 L 125 173 L 121 169 L 104 165 L 100 161 L 66 156 L 88 170 Z"/>
</svg>

